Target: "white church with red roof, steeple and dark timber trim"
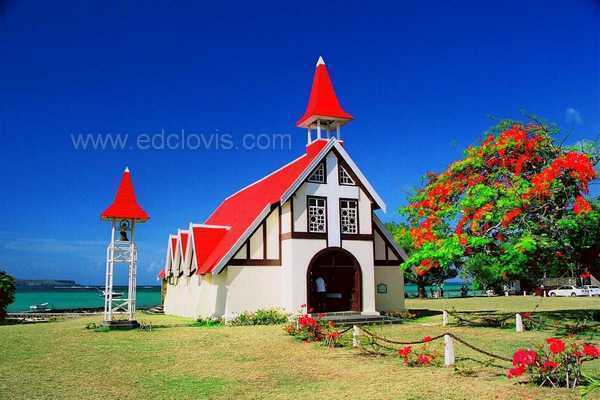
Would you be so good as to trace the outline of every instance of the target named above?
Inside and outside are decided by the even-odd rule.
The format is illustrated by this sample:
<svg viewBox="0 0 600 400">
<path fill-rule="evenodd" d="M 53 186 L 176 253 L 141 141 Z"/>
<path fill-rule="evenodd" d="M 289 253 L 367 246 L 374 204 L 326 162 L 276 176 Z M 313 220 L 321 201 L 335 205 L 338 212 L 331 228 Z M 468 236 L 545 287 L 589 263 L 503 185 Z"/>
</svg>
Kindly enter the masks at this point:
<svg viewBox="0 0 600 400">
<path fill-rule="evenodd" d="M 375 215 L 385 203 L 344 149 L 340 127 L 351 120 L 319 58 L 297 122 L 308 132 L 305 152 L 169 236 L 166 314 L 404 310 L 406 254 Z"/>
</svg>

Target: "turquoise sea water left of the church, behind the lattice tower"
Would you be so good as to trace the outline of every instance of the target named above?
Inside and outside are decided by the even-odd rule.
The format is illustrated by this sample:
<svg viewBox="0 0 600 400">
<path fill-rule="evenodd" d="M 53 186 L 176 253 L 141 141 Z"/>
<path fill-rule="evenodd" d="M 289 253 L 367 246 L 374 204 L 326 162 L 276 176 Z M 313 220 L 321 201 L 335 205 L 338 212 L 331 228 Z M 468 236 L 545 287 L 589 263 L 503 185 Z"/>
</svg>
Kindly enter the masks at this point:
<svg viewBox="0 0 600 400">
<path fill-rule="evenodd" d="M 115 287 L 115 292 L 127 293 L 126 287 Z M 160 287 L 137 288 L 137 306 L 151 307 L 160 304 Z M 54 310 L 68 308 L 95 308 L 104 306 L 104 298 L 96 289 L 17 289 L 15 302 L 8 312 L 29 311 L 32 304 L 48 303 Z"/>
</svg>

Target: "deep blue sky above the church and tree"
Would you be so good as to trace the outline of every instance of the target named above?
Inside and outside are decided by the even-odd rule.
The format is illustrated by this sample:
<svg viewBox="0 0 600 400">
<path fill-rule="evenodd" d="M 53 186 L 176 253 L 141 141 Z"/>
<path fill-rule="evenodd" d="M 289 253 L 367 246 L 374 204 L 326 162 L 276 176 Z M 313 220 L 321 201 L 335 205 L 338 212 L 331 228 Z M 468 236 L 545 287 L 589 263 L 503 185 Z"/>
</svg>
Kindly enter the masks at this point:
<svg viewBox="0 0 600 400">
<path fill-rule="evenodd" d="M 346 148 L 387 202 L 384 219 L 492 116 L 525 109 L 569 143 L 600 133 L 598 2 L 217 3 L 0 1 L 0 268 L 103 282 L 99 213 L 128 165 L 152 217 L 139 281 L 155 283 L 169 232 L 303 151 L 295 121 L 319 55 L 356 118 Z M 182 129 L 293 141 L 84 151 L 71 139 Z"/>
</svg>

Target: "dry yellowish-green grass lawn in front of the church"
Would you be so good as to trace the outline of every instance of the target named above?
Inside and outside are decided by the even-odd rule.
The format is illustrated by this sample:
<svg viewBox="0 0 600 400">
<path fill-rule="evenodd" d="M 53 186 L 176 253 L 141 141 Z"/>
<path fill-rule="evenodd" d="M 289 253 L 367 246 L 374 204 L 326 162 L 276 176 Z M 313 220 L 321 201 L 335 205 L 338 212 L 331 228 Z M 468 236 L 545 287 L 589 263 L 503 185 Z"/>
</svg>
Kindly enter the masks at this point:
<svg viewBox="0 0 600 400">
<path fill-rule="evenodd" d="M 514 300 L 511 302 L 510 300 Z M 539 298 L 537 299 L 539 301 Z M 551 299 L 548 309 L 600 308 L 600 299 Z M 581 301 L 579 301 L 581 300 Z M 413 309 L 525 311 L 533 298 L 409 300 Z M 192 321 L 140 314 L 155 325 Z M 152 332 L 86 330 L 99 317 L 0 326 L 0 398 L 166 399 L 577 399 L 568 390 L 538 389 L 504 377 L 506 364 L 481 366 L 485 357 L 456 344 L 460 365 L 408 368 L 397 357 L 373 357 L 350 348 L 326 349 L 287 336 L 281 326 L 172 327 Z M 371 328 L 391 338 L 417 339 L 444 331 L 440 316 Z M 554 332 L 516 334 L 512 329 L 449 328 L 456 335 L 510 357 L 515 348 L 542 342 Z M 591 335 L 597 342 L 597 335 Z M 434 342 L 442 350 L 441 342 Z M 472 359 L 472 360 L 468 360 Z M 587 366 L 600 375 L 600 362 Z"/>
</svg>

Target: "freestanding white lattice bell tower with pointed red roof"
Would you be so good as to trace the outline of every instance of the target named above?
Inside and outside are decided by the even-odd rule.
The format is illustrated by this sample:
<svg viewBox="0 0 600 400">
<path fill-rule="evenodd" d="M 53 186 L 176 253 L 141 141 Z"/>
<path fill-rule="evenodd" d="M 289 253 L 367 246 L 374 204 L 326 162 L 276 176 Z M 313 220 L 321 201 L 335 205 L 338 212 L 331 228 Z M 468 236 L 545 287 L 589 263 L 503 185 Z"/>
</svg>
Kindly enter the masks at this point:
<svg viewBox="0 0 600 400">
<path fill-rule="evenodd" d="M 106 248 L 106 283 L 104 287 L 104 322 L 114 328 L 135 328 L 137 247 L 135 245 L 136 223 L 146 222 L 150 217 L 138 204 L 131 173 L 125 168 L 113 203 L 102 212 L 101 218 L 111 223 L 110 243 Z M 115 268 L 127 266 L 127 297 L 113 290 Z M 114 318 L 125 315 L 127 319 Z"/>
</svg>

